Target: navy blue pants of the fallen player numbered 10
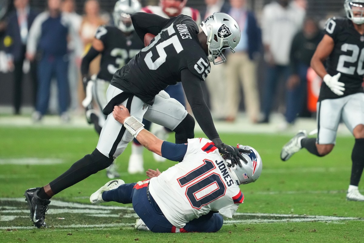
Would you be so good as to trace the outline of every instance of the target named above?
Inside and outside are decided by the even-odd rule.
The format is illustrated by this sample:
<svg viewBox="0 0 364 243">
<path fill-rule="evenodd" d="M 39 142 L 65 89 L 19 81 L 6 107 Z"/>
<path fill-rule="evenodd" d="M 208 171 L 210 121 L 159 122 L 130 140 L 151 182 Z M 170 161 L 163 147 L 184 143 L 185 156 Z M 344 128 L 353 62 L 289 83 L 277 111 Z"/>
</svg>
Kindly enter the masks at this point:
<svg viewBox="0 0 364 243">
<path fill-rule="evenodd" d="M 147 184 L 142 186 L 138 186 L 137 183 L 120 185 L 116 189 L 103 192 L 102 198 L 104 201 L 132 203 L 137 215 L 155 233 L 216 232 L 221 229 L 223 223 L 223 218 L 219 213 L 210 212 L 198 219 L 191 220 L 183 228 L 176 228 L 163 215 L 152 195 L 149 194 L 148 200 Z"/>
</svg>

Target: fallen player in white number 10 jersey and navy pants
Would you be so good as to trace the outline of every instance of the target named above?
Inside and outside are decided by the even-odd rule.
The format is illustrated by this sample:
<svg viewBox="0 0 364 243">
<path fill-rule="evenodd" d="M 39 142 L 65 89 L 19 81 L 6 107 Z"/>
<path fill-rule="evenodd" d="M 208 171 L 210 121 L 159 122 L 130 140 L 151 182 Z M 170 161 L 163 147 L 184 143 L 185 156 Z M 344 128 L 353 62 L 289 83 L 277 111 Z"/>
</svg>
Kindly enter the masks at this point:
<svg viewBox="0 0 364 243">
<path fill-rule="evenodd" d="M 182 160 L 163 173 L 149 170 L 151 179 L 130 184 L 109 181 L 91 195 L 93 204 L 132 203 L 141 217 L 137 229 L 159 233 L 218 231 L 222 216 L 231 218 L 243 203 L 239 185 L 255 182 L 261 174 L 262 160 L 252 147 L 238 145 L 248 162 L 229 167 L 231 163 L 206 138 L 174 144 L 144 129 L 123 105 L 115 106 L 112 115 L 148 150 L 172 161 Z"/>
</svg>

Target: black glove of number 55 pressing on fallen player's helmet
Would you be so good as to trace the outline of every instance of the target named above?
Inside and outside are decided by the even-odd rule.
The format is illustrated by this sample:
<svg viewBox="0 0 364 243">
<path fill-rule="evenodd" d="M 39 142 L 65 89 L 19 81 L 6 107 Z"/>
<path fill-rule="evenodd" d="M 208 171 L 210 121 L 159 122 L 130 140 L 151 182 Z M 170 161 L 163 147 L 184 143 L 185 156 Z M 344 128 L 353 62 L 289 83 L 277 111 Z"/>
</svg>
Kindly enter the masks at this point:
<svg viewBox="0 0 364 243">
<path fill-rule="evenodd" d="M 250 153 L 250 150 L 236 148 L 227 144 L 224 144 L 220 138 L 215 138 L 212 140 L 215 146 L 219 149 L 221 154 L 225 154 L 231 160 L 231 167 L 234 167 L 235 164 L 242 167 L 240 159 L 244 161 L 244 163 L 248 164 L 248 161 L 241 155 L 241 153 Z M 229 165 L 229 164 L 228 164 Z M 230 167 L 229 166 L 229 167 Z"/>
</svg>

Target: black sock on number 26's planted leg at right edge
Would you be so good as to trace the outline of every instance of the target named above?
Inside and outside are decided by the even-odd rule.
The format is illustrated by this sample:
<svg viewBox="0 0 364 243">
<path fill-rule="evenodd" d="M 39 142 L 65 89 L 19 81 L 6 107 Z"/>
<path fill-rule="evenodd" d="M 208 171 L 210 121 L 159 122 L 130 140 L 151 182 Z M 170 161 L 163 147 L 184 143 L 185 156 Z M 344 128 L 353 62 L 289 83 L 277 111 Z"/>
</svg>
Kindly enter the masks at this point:
<svg viewBox="0 0 364 243">
<path fill-rule="evenodd" d="M 355 139 L 351 160 L 353 165 L 351 167 L 350 185 L 357 186 L 364 168 L 364 138 Z"/>
</svg>

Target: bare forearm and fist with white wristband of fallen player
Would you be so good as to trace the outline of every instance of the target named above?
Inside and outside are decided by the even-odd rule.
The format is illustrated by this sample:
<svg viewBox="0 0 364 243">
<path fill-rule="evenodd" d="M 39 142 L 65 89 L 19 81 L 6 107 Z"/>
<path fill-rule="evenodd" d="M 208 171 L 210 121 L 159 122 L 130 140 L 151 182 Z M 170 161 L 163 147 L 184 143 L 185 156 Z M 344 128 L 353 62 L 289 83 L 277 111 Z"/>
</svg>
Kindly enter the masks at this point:
<svg viewBox="0 0 364 243">
<path fill-rule="evenodd" d="M 143 145 L 153 153 L 162 156 L 163 140 L 157 138 L 153 133 L 144 129 L 144 125 L 134 117 L 130 116 L 128 109 L 123 106 L 114 106 L 112 116 L 116 121 L 124 124 L 125 128 Z"/>
</svg>

